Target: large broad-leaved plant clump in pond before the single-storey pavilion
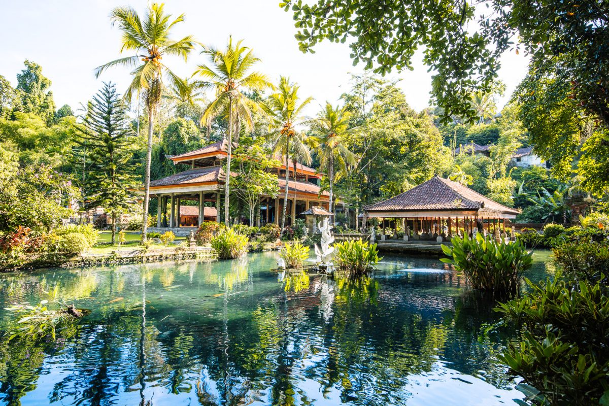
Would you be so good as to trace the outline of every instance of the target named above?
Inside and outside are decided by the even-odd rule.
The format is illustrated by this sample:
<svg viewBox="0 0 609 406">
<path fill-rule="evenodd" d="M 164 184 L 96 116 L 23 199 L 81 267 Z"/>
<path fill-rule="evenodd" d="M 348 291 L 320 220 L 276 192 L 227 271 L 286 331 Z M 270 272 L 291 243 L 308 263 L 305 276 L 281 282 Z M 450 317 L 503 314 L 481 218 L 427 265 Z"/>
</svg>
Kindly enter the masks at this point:
<svg viewBox="0 0 609 406">
<path fill-rule="evenodd" d="M 520 276 L 531 267 L 533 254 L 527 252 L 521 241 L 495 242 L 492 236 L 477 234 L 452 237 L 452 248 L 442 244 L 442 251 L 451 258 L 440 261 L 454 265 L 462 271 L 475 289 L 498 293 L 518 292 Z"/>
</svg>

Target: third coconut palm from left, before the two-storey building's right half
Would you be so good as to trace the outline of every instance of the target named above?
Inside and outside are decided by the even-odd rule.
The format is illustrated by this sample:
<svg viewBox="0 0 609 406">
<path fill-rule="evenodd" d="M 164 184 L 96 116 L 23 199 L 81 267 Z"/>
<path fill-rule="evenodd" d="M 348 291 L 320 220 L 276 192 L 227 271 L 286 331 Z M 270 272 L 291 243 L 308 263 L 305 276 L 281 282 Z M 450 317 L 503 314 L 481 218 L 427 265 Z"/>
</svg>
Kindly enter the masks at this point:
<svg viewBox="0 0 609 406">
<path fill-rule="evenodd" d="M 298 86 L 290 83 L 287 77 L 280 77 L 277 91 L 269 96 L 264 103 L 264 111 L 269 116 L 269 134 L 267 137 L 273 144 L 273 153 L 280 153 L 282 162 L 286 163 L 286 187 L 283 197 L 283 211 L 281 212 L 281 228 L 286 226 L 287 189 L 290 178 L 290 153 L 293 158 L 300 158 L 305 163 L 311 163 L 311 153 L 306 142 L 306 134 L 298 130 L 297 126 L 303 124 L 303 108 L 311 103 L 312 97 L 298 103 Z M 296 181 L 296 161 L 294 161 L 294 181 Z"/>
</svg>

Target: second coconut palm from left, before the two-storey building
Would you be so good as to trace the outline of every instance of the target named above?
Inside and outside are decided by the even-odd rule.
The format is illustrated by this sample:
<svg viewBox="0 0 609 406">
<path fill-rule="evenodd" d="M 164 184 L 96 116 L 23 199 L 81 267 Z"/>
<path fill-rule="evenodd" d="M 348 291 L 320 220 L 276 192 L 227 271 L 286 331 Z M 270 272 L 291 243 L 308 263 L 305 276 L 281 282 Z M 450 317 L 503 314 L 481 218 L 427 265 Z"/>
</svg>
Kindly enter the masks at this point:
<svg viewBox="0 0 609 406">
<path fill-rule="evenodd" d="M 230 166 L 233 149 L 233 133 L 235 128 L 244 122 L 248 129 L 253 128 L 252 113 L 260 110 L 260 105 L 242 93 L 247 91 L 262 91 L 272 88 L 266 75 L 250 72 L 250 68 L 259 62 L 252 49 L 242 46 L 242 41 L 233 44 L 233 38 L 228 38 L 224 51 L 206 47 L 202 54 L 209 58 L 209 65 L 199 65 L 193 76 L 199 75 L 202 80 L 194 82 L 197 89 L 213 89 L 216 98 L 209 103 L 201 117 L 201 125 L 209 126 L 211 121 L 220 114 L 228 117 L 227 131 L 227 172 L 224 196 L 224 222 L 228 225 L 228 207 L 230 192 Z"/>
</svg>

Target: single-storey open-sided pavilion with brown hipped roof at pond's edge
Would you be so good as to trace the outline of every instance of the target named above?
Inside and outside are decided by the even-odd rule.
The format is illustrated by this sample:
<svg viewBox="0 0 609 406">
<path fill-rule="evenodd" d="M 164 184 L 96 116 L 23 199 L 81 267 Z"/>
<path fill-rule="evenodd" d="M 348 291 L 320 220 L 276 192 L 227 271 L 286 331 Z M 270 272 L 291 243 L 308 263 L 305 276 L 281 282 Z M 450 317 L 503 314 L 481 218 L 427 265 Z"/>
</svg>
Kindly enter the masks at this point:
<svg viewBox="0 0 609 406">
<path fill-rule="evenodd" d="M 394 220 L 394 237 L 401 221 L 404 241 L 442 242 L 455 234 L 473 236 L 500 233 L 505 237 L 506 221 L 518 211 L 501 205 L 460 183 L 438 176 L 409 191 L 364 208 L 362 221 L 380 218 L 381 240 L 385 240 L 387 220 Z M 440 238 L 438 238 L 440 237 Z"/>
</svg>

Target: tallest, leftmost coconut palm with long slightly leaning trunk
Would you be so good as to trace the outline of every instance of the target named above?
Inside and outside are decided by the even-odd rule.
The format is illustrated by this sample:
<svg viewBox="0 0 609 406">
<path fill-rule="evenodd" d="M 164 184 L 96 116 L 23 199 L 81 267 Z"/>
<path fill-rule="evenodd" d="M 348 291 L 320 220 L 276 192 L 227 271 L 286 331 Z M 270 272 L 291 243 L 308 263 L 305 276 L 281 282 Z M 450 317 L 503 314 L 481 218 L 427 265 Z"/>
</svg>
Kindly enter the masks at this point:
<svg viewBox="0 0 609 406">
<path fill-rule="evenodd" d="M 112 24 L 118 24 L 122 32 L 121 53 L 134 51 L 135 55 L 119 58 L 98 66 L 96 77 L 113 66 L 134 68 L 131 72 L 132 82 L 125 92 L 125 100 L 131 102 L 133 94 L 141 94 L 148 111 L 148 150 L 146 154 L 146 173 L 144 180 L 144 215 L 142 224 L 142 240 L 146 241 L 148 222 L 148 201 L 150 200 L 150 158 L 152 156 L 152 133 L 154 115 L 158 110 L 163 93 L 163 79 L 166 78 L 172 86 L 181 86 L 180 78 L 161 61 L 164 56 L 188 58 L 195 46 L 191 35 L 172 40 L 171 30 L 175 24 L 184 21 L 181 14 L 172 20 L 171 14 L 166 14 L 163 4 L 153 3 L 146 10 L 144 19 L 130 7 L 116 7 L 110 13 Z"/>
</svg>

